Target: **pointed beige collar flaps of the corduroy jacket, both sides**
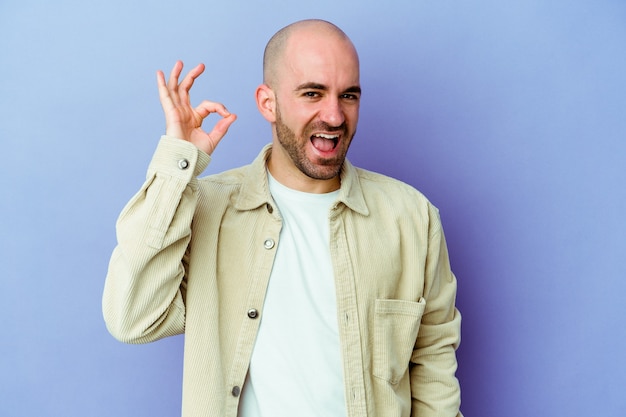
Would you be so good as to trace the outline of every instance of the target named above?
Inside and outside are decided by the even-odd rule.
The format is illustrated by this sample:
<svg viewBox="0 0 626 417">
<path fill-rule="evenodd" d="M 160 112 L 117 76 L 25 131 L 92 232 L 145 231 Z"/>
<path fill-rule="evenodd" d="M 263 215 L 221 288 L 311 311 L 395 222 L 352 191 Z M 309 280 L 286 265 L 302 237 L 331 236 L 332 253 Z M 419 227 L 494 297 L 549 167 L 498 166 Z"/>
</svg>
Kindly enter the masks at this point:
<svg viewBox="0 0 626 417">
<path fill-rule="evenodd" d="M 273 203 L 269 191 L 266 168 L 271 151 L 272 145 L 266 145 L 252 164 L 245 168 L 246 172 L 241 192 L 235 203 L 237 210 L 253 210 L 262 205 Z M 337 203 L 343 203 L 364 216 L 369 215 L 356 167 L 346 159 L 339 175 L 341 188 L 339 189 Z"/>
</svg>

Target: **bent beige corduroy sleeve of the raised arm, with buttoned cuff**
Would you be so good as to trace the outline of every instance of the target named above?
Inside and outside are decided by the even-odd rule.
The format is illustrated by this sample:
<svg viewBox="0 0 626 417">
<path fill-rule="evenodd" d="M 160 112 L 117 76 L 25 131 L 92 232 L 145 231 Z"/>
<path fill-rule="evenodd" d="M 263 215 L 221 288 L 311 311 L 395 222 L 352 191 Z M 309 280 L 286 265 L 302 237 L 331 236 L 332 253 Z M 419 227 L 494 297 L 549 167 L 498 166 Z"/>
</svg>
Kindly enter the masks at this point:
<svg viewBox="0 0 626 417">
<path fill-rule="evenodd" d="M 146 182 L 120 214 L 102 297 L 116 339 L 147 343 L 184 332 L 185 255 L 197 176 L 209 161 L 193 144 L 163 136 Z"/>
</svg>

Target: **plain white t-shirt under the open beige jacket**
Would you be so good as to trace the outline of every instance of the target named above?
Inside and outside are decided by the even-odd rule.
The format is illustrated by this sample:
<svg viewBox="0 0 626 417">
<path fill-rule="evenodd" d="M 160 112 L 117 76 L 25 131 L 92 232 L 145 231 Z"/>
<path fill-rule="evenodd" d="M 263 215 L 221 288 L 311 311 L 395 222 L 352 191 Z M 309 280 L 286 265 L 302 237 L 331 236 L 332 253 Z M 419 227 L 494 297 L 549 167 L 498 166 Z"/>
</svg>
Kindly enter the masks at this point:
<svg viewBox="0 0 626 417">
<path fill-rule="evenodd" d="M 303 193 L 268 177 L 283 228 L 239 416 L 342 417 L 346 405 L 328 220 L 338 191 Z"/>
</svg>

